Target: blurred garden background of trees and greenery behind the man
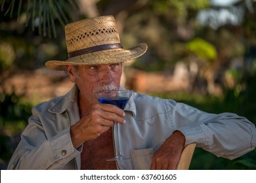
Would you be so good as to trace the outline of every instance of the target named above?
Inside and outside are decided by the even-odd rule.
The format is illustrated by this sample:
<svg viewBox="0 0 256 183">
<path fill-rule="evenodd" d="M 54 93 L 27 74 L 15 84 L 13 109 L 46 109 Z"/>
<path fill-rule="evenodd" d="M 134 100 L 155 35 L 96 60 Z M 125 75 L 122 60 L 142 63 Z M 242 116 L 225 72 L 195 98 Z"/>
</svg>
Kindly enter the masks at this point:
<svg viewBox="0 0 256 183">
<path fill-rule="evenodd" d="M 126 88 L 256 123 L 255 0 L 0 0 L 0 168 L 6 169 L 33 105 L 72 83 L 46 69 L 67 59 L 64 25 L 112 14 L 124 48 L 148 51 L 125 63 Z M 256 151 L 217 158 L 196 148 L 190 169 L 256 169 Z"/>
</svg>

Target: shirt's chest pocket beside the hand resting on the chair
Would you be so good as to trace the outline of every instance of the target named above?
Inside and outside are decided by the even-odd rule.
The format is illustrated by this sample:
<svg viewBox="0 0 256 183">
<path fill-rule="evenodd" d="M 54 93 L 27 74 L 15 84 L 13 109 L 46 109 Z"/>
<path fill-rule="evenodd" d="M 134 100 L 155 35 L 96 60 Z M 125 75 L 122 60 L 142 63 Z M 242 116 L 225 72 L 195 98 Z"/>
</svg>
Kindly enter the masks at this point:
<svg viewBox="0 0 256 183">
<path fill-rule="evenodd" d="M 152 156 L 158 148 L 160 148 L 163 142 L 152 146 L 151 148 L 146 149 L 132 149 L 131 150 L 131 159 L 133 161 L 133 167 L 135 170 L 149 170 Z"/>
</svg>

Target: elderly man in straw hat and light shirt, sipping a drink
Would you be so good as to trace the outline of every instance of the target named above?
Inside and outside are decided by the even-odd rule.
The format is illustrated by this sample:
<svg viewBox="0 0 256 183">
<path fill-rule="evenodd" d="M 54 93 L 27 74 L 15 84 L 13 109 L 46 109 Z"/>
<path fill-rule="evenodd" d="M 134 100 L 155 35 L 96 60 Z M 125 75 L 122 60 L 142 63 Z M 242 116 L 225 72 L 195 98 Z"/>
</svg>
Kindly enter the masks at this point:
<svg viewBox="0 0 256 183">
<path fill-rule="evenodd" d="M 65 32 L 68 59 L 46 66 L 67 71 L 74 87 L 33 108 L 8 169 L 176 169 L 191 143 L 228 159 L 255 148 L 255 125 L 236 114 L 209 114 L 135 92 L 124 110 L 100 104 L 95 92 L 125 90 L 122 63 L 142 56 L 147 46 L 124 49 L 113 16 L 74 22 Z M 106 161 L 117 145 L 113 121 L 129 159 Z"/>
</svg>

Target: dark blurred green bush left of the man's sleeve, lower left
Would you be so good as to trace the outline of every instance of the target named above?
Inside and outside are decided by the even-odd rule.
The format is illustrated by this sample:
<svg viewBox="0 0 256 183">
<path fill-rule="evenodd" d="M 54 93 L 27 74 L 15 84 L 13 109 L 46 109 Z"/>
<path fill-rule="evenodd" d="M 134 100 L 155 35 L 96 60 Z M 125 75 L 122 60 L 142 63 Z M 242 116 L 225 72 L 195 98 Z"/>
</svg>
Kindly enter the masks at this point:
<svg viewBox="0 0 256 183">
<path fill-rule="evenodd" d="M 28 124 L 32 103 L 22 95 L 0 93 L 0 169 L 6 169 L 20 134 Z"/>
</svg>

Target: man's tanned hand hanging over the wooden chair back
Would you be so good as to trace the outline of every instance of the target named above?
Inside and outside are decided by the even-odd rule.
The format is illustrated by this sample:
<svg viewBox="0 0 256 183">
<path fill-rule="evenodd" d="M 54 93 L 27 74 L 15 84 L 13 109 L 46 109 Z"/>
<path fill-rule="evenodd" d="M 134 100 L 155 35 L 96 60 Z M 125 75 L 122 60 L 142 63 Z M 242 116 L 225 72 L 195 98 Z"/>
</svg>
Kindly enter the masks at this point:
<svg viewBox="0 0 256 183">
<path fill-rule="evenodd" d="M 160 148 L 153 154 L 150 169 L 152 170 L 174 170 L 181 158 L 184 150 L 186 138 L 181 131 L 174 131 L 173 134 L 166 139 Z"/>
</svg>

